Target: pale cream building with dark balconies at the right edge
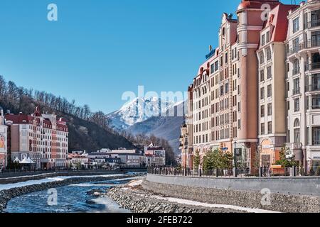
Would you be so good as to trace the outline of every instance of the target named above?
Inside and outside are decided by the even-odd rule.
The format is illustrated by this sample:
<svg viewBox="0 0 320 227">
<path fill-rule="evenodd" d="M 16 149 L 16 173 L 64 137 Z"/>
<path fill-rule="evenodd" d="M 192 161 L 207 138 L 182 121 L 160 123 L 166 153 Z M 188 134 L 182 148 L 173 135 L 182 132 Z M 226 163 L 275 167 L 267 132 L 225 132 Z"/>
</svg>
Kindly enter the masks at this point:
<svg viewBox="0 0 320 227">
<path fill-rule="evenodd" d="M 287 142 L 305 167 L 320 165 L 320 1 L 289 12 Z"/>
</svg>

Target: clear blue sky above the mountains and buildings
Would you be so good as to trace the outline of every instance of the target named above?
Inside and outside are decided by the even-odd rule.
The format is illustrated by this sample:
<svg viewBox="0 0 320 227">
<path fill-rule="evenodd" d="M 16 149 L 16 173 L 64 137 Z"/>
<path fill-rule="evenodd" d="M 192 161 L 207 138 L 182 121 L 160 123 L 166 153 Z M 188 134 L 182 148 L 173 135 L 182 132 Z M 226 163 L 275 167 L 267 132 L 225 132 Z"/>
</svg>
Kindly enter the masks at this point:
<svg viewBox="0 0 320 227">
<path fill-rule="evenodd" d="M 185 91 L 217 43 L 222 13 L 239 2 L 1 0 L 0 74 L 105 113 L 139 85 Z M 50 3 L 58 21 L 47 20 Z"/>
</svg>

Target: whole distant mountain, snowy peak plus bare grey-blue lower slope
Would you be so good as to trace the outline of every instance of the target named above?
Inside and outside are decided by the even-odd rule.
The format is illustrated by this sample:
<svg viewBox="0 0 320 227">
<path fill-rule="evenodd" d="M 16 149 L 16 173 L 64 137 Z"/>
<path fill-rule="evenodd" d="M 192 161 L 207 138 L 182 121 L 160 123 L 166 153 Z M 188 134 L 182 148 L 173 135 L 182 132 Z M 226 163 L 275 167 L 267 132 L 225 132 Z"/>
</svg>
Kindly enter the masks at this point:
<svg viewBox="0 0 320 227">
<path fill-rule="evenodd" d="M 178 154 L 180 127 L 183 115 L 186 114 L 186 104 L 186 101 L 174 104 L 159 98 L 137 98 L 107 117 L 116 130 L 126 130 L 133 135 L 152 134 L 168 140 Z"/>
</svg>

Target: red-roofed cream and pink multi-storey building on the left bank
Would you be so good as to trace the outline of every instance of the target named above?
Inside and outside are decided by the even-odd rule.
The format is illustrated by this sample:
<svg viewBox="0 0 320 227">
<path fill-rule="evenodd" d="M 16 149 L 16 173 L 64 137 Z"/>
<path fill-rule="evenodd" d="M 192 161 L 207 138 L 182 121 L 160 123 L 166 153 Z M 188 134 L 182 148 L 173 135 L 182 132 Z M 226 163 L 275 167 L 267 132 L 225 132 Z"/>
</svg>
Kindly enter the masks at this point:
<svg viewBox="0 0 320 227">
<path fill-rule="evenodd" d="M 11 160 L 25 157 L 36 162 L 36 169 L 67 167 L 68 126 L 55 114 L 6 114 L 11 138 Z"/>
</svg>

